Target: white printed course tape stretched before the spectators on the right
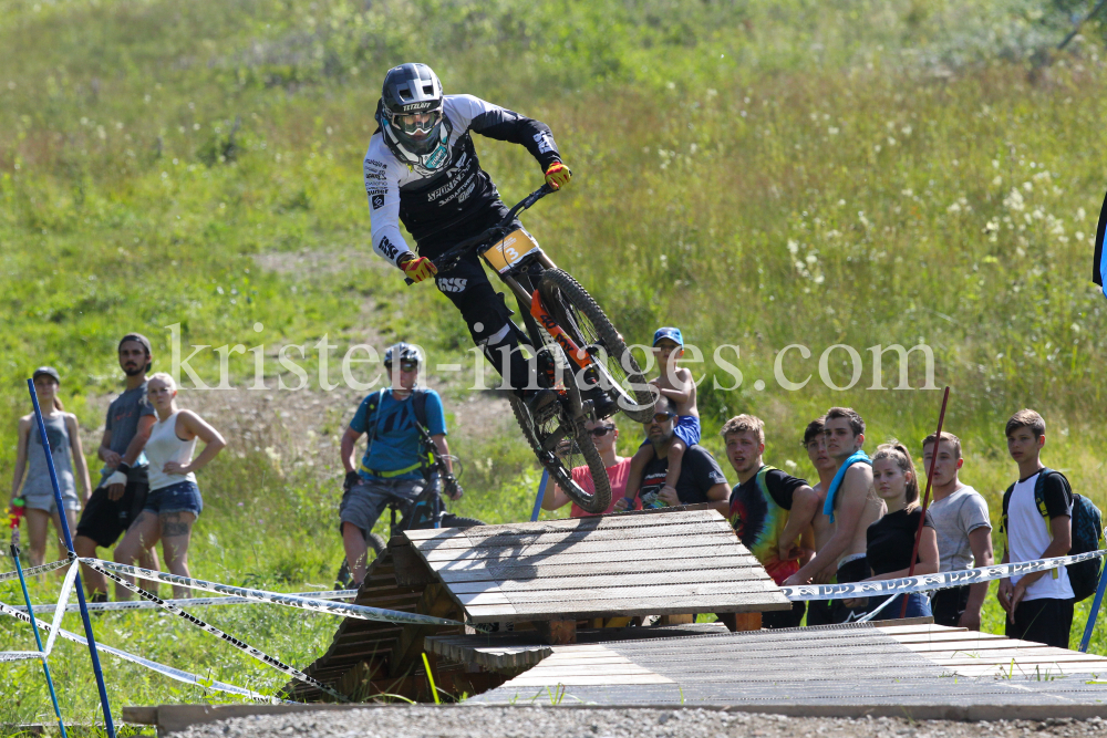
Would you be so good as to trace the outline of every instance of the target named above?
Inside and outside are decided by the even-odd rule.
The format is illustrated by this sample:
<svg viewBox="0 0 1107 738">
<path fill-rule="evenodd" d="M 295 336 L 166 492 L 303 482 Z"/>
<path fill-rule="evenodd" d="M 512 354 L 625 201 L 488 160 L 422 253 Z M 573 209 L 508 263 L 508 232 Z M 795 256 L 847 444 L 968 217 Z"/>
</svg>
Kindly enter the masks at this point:
<svg viewBox="0 0 1107 738">
<path fill-rule="evenodd" d="M 1070 557 L 1056 557 L 1054 559 L 1037 559 L 1035 561 L 1022 561 L 1012 564 L 994 564 L 992 567 L 980 567 L 979 569 L 961 569 L 958 571 L 946 571 L 938 574 L 922 574 L 920 576 L 904 576 L 903 579 L 884 579 L 872 582 L 853 582 L 850 584 L 800 584 L 799 586 L 782 586 L 780 591 L 793 602 L 811 600 L 850 600 L 856 597 L 872 597 L 881 594 L 907 594 L 910 592 L 929 592 L 931 590 L 945 590 L 951 586 L 963 586 L 965 584 L 977 584 L 980 582 L 991 582 L 995 579 L 1006 579 L 1017 574 L 1031 574 L 1036 571 L 1048 571 L 1057 567 L 1088 559 L 1098 559 L 1107 555 L 1107 550 L 1088 551 Z"/>
</svg>

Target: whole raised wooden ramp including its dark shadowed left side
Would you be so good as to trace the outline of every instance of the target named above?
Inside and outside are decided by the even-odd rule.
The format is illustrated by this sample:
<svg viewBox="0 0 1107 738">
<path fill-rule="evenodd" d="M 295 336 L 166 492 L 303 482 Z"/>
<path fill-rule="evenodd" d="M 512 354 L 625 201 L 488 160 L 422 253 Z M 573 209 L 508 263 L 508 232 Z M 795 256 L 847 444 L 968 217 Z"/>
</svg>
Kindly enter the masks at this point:
<svg viewBox="0 0 1107 738">
<path fill-rule="evenodd" d="M 355 602 L 528 630 L 545 643 L 575 642 L 578 624 L 629 625 L 645 615 L 680 622 L 693 613 L 792 606 L 730 523 L 699 508 L 408 531 L 389 541 Z M 463 630 L 476 633 L 346 619 L 304 672 L 354 699 L 430 699 L 424 638 L 461 636 Z M 444 658 L 435 667 L 436 683 L 451 694 L 478 694 L 506 678 L 475 662 Z M 325 699 L 298 682 L 283 694 Z"/>
</svg>

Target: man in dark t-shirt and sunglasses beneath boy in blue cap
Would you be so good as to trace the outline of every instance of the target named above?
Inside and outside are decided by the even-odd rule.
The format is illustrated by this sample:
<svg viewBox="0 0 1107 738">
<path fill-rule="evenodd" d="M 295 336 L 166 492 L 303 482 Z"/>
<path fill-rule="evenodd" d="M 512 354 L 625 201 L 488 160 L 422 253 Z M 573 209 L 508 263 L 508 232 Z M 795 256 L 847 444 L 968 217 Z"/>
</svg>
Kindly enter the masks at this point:
<svg viewBox="0 0 1107 738">
<path fill-rule="evenodd" d="M 730 508 L 730 487 L 726 477 L 707 449 L 689 446 L 681 464 L 681 476 L 676 480 L 676 493 L 670 489 L 662 491 L 669 471 L 669 447 L 673 443 L 673 427 L 676 414 L 668 397 L 659 397 L 655 414 L 645 425 L 645 435 L 653 446 L 653 458 L 642 470 L 639 497 L 644 507 L 708 503 L 723 516 Z M 615 503 L 615 510 L 625 510 L 634 500 L 623 498 Z"/>
</svg>

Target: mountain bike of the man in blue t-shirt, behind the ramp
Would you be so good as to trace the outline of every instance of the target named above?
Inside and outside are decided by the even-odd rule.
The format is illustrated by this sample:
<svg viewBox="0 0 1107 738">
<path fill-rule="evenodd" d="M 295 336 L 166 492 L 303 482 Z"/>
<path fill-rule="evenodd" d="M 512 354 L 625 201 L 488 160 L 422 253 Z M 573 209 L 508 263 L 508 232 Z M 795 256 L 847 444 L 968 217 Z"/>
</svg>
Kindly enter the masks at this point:
<svg viewBox="0 0 1107 738">
<path fill-rule="evenodd" d="M 391 516 L 389 536 L 392 537 L 405 530 L 472 528 L 473 526 L 485 524 L 484 521 L 476 518 L 455 516 L 446 509 L 446 503 L 442 499 L 443 496 L 457 499 L 464 491 L 462 490 L 462 486 L 457 484 L 457 476 L 461 476 L 461 472 L 455 476 L 449 470 L 449 467 L 446 466 L 446 457 L 438 454 L 426 428 L 417 423 L 415 427 L 418 429 L 420 445 L 424 451 L 422 470 L 427 485 L 414 500 L 401 497 L 394 497 L 389 500 L 389 513 Z M 449 459 L 455 468 L 461 465 L 461 460 L 456 456 L 451 456 Z M 370 532 L 365 538 L 365 544 L 368 547 L 365 551 L 365 564 L 369 565 L 379 555 L 384 553 L 384 549 L 389 542 L 380 533 Z M 342 559 L 339 573 L 334 576 L 334 586 L 340 590 L 349 590 L 352 585 L 353 574 L 350 572 L 350 562 Z"/>
</svg>

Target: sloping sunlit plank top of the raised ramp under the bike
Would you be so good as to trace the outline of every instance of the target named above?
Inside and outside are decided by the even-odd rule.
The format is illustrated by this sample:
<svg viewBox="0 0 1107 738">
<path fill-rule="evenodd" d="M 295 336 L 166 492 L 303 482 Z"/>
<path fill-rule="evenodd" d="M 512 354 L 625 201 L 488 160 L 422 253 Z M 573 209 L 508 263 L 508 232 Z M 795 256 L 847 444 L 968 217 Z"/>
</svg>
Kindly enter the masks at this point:
<svg viewBox="0 0 1107 738">
<path fill-rule="evenodd" d="M 714 510 L 414 530 L 405 536 L 472 623 L 792 607 Z"/>
</svg>

